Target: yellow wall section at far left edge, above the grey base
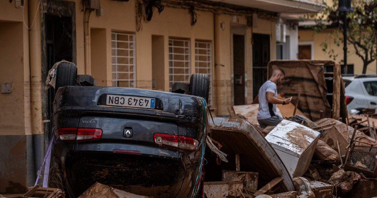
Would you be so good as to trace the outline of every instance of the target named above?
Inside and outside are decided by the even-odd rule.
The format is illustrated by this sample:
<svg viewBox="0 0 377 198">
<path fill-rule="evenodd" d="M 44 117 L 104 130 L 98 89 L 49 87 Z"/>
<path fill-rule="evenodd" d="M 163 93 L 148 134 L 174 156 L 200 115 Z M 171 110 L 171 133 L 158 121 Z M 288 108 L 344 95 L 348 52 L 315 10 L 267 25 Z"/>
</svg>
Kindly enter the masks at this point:
<svg viewBox="0 0 377 198">
<path fill-rule="evenodd" d="M 0 8 L 0 83 L 12 83 L 12 93 L 0 94 L 0 135 L 31 134 L 29 31 L 23 9 L 4 1 Z"/>
</svg>

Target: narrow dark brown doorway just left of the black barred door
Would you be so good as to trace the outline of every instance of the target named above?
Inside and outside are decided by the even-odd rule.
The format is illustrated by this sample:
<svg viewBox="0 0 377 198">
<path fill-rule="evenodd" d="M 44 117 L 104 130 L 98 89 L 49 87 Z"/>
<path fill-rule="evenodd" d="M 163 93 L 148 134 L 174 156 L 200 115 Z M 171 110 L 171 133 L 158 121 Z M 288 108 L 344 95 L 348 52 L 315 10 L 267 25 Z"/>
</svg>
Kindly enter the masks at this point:
<svg viewBox="0 0 377 198">
<path fill-rule="evenodd" d="M 245 104 L 245 36 L 233 34 L 234 105 Z"/>
</svg>

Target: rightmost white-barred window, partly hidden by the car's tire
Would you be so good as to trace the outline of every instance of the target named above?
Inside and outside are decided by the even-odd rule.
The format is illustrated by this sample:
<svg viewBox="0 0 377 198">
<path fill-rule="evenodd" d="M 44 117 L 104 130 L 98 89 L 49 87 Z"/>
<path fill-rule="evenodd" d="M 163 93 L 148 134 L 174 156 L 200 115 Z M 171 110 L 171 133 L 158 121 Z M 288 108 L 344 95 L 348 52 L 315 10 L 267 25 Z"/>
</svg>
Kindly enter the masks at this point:
<svg viewBox="0 0 377 198">
<path fill-rule="evenodd" d="M 208 106 L 213 107 L 212 92 L 212 43 L 195 41 L 195 73 L 207 74 L 210 78 Z"/>
</svg>

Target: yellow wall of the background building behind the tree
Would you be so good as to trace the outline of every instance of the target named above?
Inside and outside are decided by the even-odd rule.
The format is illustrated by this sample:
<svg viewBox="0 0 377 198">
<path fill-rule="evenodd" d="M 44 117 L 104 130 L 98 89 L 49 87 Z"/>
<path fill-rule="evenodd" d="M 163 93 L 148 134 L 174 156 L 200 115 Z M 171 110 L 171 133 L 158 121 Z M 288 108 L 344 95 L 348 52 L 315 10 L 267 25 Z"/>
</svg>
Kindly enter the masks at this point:
<svg viewBox="0 0 377 198">
<path fill-rule="evenodd" d="M 328 43 L 328 50 L 334 49 L 338 57 L 336 61 L 340 61 L 343 59 L 343 44 L 340 46 L 336 46 L 334 44 L 333 39 L 329 38 L 331 31 L 323 31 L 317 34 L 313 34 L 313 30 L 311 29 L 299 29 L 299 42 L 306 42 L 306 41 L 313 41 L 314 43 L 314 59 L 316 60 L 332 60 L 329 58 L 329 55 L 326 52 L 322 51 L 322 47 L 320 46 L 323 41 L 327 41 Z M 341 33 L 340 33 L 341 34 Z M 347 64 L 354 64 L 354 74 L 361 74 L 363 71 L 363 61 L 362 59 L 355 54 L 355 49 L 353 48 L 352 44 L 348 43 L 348 56 L 347 56 Z M 376 61 L 373 61 L 368 65 L 366 70 L 367 74 L 376 74 Z"/>
</svg>

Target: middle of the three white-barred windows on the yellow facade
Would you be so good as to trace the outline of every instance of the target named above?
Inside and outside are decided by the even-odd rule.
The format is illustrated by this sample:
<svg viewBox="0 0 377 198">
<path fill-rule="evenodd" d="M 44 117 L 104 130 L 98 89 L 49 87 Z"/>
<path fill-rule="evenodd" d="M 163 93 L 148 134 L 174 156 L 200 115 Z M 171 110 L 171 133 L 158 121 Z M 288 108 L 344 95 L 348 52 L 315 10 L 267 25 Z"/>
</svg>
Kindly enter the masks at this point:
<svg viewBox="0 0 377 198">
<path fill-rule="evenodd" d="M 188 82 L 191 75 L 190 41 L 169 38 L 169 91 L 173 83 Z"/>
</svg>

